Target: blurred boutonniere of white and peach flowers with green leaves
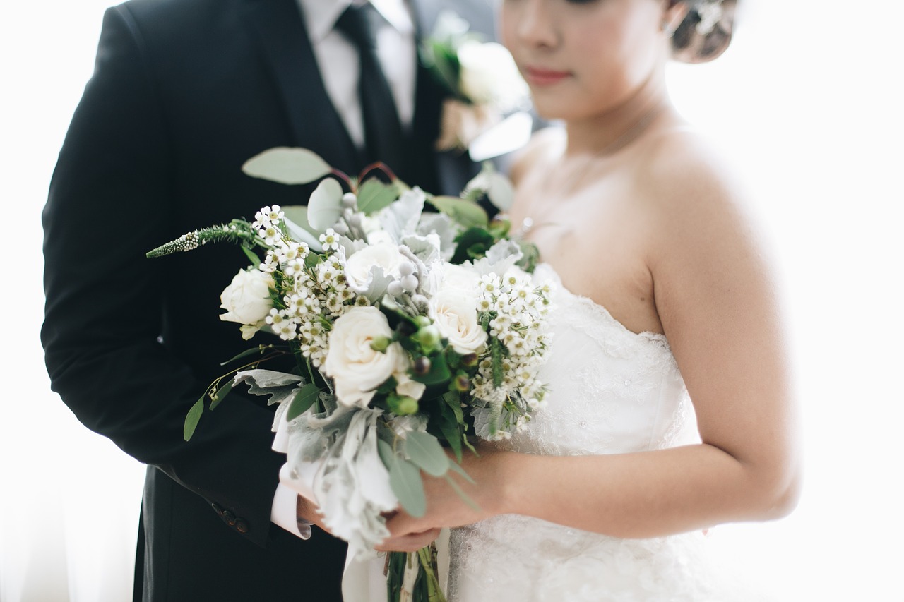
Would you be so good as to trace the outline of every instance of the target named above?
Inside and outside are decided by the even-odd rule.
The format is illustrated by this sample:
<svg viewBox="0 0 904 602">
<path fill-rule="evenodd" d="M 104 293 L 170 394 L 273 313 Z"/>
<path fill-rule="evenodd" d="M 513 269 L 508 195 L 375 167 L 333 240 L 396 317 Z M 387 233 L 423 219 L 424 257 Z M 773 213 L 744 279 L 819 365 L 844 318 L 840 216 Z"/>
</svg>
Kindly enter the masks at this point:
<svg viewBox="0 0 904 602">
<path fill-rule="evenodd" d="M 529 107 L 527 84 L 502 44 L 483 42 L 457 14 L 439 14 L 421 61 L 446 89 L 437 150 L 465 151 L 506 116 Z"/>
</svg>

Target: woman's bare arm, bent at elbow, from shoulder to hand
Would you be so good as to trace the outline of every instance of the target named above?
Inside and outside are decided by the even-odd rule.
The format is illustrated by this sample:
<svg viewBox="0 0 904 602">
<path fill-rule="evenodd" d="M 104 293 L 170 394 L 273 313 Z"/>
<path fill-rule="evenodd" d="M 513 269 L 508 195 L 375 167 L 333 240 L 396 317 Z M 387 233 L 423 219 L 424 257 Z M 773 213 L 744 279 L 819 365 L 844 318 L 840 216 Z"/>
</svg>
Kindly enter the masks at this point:
<svg viewBox="0 0 904 602">
<path fill-rule="evenodd" d="M 784 335 L 767 262 L 733 187 L 694 165 L 668 164 L 651 190 L 647 265 L 656 309 L 681 369 L 702 443 L 610 456 L 466 457 L 478 485 L 427 480 L 428 514 L 400 513 L 393 534 L 520 513 L 619 537 L 768 520 L 796 504 L 796 418 Z M 655 185 L 655 184 L 651 184 Z"/>
</svg>

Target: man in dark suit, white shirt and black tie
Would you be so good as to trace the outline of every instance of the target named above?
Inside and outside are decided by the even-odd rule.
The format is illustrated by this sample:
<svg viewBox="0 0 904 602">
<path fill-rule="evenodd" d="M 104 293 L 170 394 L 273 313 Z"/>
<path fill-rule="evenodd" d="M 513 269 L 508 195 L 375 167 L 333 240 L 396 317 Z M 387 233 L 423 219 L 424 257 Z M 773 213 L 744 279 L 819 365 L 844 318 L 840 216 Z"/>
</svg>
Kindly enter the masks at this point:
<svg viewBox="0 0 904 602">
<path fill-rule="evenodd" d="M 310 187 L 241 173 L 267 148 L 307 147 L 347 174 L 374 158 L 368 133 L 385 124 L 365 123 L 373 109 L 355 92 L 372 55 L 336 25 L 348 4 L 131 0 L 105 15 L 43 214 L 42 343 L 52 387 L 81 422 L 148 465 L 137 600 L 340 599 L 344 543 L 317 529 L 299 537 L 266 405 L 234 392 L 183 440 L 185 413 L 227 370 L 220 362 L 249 347 L 217 316 L 222 288 L 246 264 L 240 249 L 145 252 L 263 205 L 306 202 Z M 433 150 L 442 93 L 416 44 L 444 8 L 492 34 L 490 5 L 373 5 L 401 136 L 391 167 L 457 193 L 474 165 Z"/>
</svg>

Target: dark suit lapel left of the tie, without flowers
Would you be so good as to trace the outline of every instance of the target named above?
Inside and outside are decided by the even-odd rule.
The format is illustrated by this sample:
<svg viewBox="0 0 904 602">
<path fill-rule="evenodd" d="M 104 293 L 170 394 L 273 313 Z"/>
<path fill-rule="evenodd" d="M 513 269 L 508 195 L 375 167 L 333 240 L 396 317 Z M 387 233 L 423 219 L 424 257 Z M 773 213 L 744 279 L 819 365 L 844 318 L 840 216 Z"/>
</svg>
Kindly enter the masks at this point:
<svg viewBox="0 0 904 602">
<path fill-rule="evenodd" d="M 243 0 L 247 24 L 279 89 L 296 146 L 349 174 L 362 166 L 330 101 L 296 0 Z"/>
</svg>

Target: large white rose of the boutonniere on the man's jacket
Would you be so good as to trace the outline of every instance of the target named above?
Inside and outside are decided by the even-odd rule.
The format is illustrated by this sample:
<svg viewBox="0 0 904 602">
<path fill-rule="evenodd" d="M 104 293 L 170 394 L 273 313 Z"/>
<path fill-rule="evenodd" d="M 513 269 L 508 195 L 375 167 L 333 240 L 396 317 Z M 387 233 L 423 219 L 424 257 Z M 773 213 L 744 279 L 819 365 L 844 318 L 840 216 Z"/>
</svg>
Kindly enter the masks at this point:
<svg viewBox="0 0 904 602">
<path fill-rule="evenodd" d="M 458 62 L 461 91 L 476 104 L 497 104 L 506 111 L 527 96 L 527 84 L 502 44 L 465 42 L 458 47 Z"/>
</svg>

